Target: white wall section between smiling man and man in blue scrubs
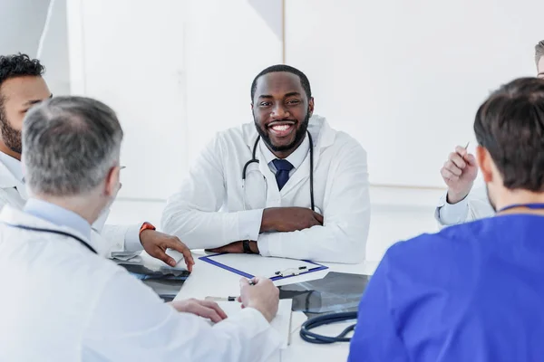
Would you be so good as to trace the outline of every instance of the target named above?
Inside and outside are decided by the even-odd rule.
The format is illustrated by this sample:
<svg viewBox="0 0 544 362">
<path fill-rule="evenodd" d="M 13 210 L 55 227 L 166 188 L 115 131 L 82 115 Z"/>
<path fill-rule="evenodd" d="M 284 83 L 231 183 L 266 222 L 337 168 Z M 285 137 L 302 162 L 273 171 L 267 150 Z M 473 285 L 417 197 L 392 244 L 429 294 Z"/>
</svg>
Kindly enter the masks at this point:
<svg viewBox="0 0 544 362">
<path fill-rule="evenodd" d="M 368 151 L 371 183 L 442 186 L 490 90 L 534 76 L 541 0 L 287 0 L 287 63 Z"/>
</svg>

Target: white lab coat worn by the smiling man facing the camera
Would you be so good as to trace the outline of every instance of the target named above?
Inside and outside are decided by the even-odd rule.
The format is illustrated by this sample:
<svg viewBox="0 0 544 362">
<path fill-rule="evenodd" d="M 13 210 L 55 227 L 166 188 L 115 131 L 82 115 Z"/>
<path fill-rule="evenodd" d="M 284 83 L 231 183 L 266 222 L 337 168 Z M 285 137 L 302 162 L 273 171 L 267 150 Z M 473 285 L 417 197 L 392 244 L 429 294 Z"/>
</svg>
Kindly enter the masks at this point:
<svg viewBox="0 0 544 362">
<path fill-rule="evenodd" d="M 257 138 L 255 125 L 248 123 L 219 132 L 204 149 L 180 192 L 166 205 L 164 232 L 177 235 L 195 249 L 257 238 L 265 256 L 322 262 L 364 260 L 370 224 L 366 152 L 354 138 L 331 129 L 322 117 L 313 116 L 308 129 L 314 141 L 316 211 L 325 217 L 323 226 L 258 234 L 264 208 L 310 207 L 310 157 L 308 152 L 281 191 L 266 162 L 248 167 L 243 188 L 242 169 Z M 260 147 L 257 158 L 264 160 Z M 248 222 L 253 224 L 251 232 Z"/>
</svg>

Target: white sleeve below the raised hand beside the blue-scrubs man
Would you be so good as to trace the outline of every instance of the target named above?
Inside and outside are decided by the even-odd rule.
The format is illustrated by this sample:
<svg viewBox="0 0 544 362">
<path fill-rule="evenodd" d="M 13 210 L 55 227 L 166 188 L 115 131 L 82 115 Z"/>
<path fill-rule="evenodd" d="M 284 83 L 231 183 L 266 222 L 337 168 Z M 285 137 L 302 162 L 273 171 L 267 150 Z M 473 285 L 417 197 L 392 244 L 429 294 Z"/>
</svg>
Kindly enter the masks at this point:
<svg viewBox="0 0 544 362">
<path fill-rule="evenodd" d="M 469 195 L 454 205 L 447 203 L 446 195 L 442 195 L 434 212 L 440 226 L 468 223 L 495 214 L 483 183 L 472 187 Z"/>
</svg>

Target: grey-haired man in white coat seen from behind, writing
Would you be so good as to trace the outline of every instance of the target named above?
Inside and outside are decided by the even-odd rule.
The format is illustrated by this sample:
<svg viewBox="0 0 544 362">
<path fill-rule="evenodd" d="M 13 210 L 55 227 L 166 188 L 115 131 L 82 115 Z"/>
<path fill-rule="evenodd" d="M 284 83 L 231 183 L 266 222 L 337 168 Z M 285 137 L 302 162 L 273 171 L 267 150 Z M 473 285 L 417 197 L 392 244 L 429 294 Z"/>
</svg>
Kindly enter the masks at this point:
<svg viewBox="0 0 544 362">
<path fill-rule="evenodd" d="M 96 252 L 91 224 L 120 187 L 122 130 L 103 103 L 57 97 L 24 119 L 33 196 L 0 213 L 1 361 L 261 361 L 281 343 L 272 281 L 240 281 L 246 308 L 165 304 Z M 185 253 L 190 261 L 189 250 Z M 217 322 L 211 326 L 207 319 Z"/>
</svg>

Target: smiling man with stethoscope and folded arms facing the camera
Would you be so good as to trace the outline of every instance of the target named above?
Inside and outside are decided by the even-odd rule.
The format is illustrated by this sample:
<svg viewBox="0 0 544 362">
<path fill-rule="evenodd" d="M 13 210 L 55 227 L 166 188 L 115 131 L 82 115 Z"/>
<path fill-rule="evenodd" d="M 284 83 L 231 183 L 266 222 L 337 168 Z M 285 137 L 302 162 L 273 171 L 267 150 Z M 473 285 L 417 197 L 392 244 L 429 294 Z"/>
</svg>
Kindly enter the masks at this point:
<svg viewBox="0 0 544 362">
<path fill-rule="evenodd" d="M 313 114 L 302 71 L 275 65 L 251 86 L 254 122 L 219 132 L 162 215 L 189 248 L 321 262 L 364 260 L 366 152 Z"/>
</svg>

